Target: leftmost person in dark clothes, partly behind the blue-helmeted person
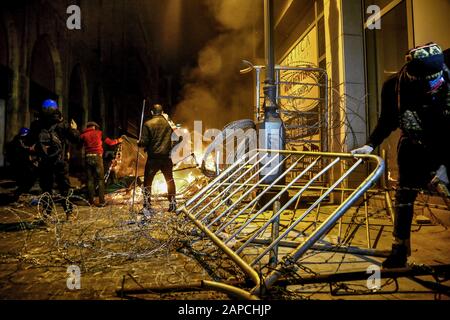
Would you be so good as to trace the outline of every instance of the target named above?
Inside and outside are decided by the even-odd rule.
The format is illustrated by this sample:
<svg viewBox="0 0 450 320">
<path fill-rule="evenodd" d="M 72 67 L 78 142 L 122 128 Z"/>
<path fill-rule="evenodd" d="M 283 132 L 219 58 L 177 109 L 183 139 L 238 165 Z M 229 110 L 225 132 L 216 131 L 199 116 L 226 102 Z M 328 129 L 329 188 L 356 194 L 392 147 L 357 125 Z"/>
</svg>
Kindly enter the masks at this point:
<svg viewBox="0 0 450 320">
<path fill-rule="evenodd" d="M 17 201 L 20 195 L 30 191 L 36 182 L 37 161 L 30 141 L 30 129 L 21 128 L 13 140 L 6 145 L 6 159 L 16 180 L 14 201 Z"/>
</svg>

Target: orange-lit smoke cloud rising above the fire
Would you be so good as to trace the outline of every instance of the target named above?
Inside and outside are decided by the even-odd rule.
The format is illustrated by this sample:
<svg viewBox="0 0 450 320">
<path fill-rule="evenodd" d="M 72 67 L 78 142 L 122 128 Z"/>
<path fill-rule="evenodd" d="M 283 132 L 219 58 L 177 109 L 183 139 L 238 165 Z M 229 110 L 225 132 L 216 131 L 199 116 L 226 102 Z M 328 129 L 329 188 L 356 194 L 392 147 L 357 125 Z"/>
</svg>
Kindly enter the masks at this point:
<svg viewBox="0 0 450 320">
<path fill-rule="evenodd" d="M 242 60 L 255 61 L 263 40 L 263 2 L 205 0 L 219 34 L 198 53 L 197 66 L 185 74 L 183 99 L 174 119 L 192 128 L 195 120 L 207 128 L 253 118 L 253 75 L 239 74 Z"/>
</svg>

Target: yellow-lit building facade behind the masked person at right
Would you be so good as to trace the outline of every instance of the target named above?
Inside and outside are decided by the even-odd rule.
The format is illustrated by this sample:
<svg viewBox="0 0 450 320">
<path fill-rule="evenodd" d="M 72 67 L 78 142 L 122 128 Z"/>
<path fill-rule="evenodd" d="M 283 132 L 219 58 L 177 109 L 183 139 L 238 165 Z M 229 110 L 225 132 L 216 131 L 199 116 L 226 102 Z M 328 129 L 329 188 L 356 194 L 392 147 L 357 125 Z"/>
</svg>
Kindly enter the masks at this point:
<svg viewBox="0 0 450 320">
<path fill-rule="evenodd" d="M 366 142 L 379 117 L 383 82 L 403 66 L 408 48 L 450 47 L 448 0 L 280 0 L 275 6 L 278 63 L 302 60 L 328 74 L 322 150 L 347 152 Z M 393 179 L 398 135 L 379 148 Z"/>
</svg>

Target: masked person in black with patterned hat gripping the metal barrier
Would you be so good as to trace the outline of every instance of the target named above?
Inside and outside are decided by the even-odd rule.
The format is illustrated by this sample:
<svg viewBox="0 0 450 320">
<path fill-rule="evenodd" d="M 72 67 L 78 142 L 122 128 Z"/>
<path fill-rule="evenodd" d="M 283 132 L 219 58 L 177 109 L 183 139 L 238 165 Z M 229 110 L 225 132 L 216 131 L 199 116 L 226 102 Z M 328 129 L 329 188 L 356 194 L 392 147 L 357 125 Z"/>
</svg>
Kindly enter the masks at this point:
<svg viewBox="0 0 450 320">
<path fill-rule="evenodd" d="M 388 79 L 381 93 L 381 114 L 366 145 L 353 154 L 369 154 L 400 128 L 399 186 L 396 191 L 394 241 L 384 268 L 405 267 L 409 254 L 414 201 L 431 181 L 449 183 L 446 139 L 450 136 L 450 73 L 435 43 L 409 50 L 406 63 Z"/>
</svg>

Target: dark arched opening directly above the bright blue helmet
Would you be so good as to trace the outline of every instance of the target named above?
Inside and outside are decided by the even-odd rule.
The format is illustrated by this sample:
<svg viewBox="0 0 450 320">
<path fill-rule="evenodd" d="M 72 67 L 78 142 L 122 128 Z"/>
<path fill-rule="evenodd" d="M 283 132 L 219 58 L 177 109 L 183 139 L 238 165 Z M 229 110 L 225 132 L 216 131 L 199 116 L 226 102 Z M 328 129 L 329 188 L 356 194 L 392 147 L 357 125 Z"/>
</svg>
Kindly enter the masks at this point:
<svg viewBox="0 0 450 320">
<path fill-rule="evenodd" d="M 29 108 L 39 110 L 43 100 L 52 98 L 63 106 L 63 71 L 61 57 L 47 35 L 40 36 L 34 43 L 28 64 L 30 79 Z"/>
</svg>

